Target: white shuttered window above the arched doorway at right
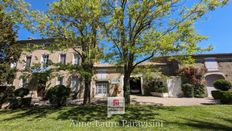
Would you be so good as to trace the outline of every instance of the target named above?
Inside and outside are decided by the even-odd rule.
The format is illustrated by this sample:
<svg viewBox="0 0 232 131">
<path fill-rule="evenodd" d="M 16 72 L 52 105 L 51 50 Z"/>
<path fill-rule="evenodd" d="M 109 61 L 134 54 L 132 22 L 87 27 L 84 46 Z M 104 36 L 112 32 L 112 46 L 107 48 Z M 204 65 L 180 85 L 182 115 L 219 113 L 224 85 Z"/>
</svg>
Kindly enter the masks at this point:
<svg viewBox="0 0 232 131">
<path fill-rule="evenodd" d="M 205 59 L 205 67 L 207 71 L 218 71 L 218 62 L 215 58 L 206 58 Z"/>
</svg>

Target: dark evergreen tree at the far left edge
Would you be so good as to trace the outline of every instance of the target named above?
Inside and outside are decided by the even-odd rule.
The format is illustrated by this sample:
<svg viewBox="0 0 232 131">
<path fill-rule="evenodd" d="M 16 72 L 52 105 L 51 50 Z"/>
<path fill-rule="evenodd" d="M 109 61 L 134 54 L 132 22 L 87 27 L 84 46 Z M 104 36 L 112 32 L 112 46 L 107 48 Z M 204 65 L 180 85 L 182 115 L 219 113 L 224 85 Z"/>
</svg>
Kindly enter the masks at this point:
<svg viewBox="0 0 232 131">
<path fill-rule="evenodd" d="M 0 6 L 0 84 L 10 84 L 14 79 L 14 70 L 10 64 L 18 59 L 13 22 Z"/>
</svg>

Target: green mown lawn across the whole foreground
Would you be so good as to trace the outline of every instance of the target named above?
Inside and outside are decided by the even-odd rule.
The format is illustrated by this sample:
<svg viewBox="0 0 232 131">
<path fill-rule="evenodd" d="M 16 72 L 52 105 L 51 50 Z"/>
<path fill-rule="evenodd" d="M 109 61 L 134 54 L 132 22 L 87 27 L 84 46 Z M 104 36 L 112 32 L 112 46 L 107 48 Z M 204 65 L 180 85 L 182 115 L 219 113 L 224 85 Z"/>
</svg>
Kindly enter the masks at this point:
<svg viewBox="0 0 232 131">
<path fill-rule="evenodd" d="M 0 130 L 230 130 L 232 105 L 157 107 L 133 105 L 124 115 L 107 118 L 106 106 L 69 106 L 0 110 Z M 163 127 L 78 127 L 75 122 L 162 121 Z M 99 123 L 98 123 L 99 126 Z"/>
</svg>

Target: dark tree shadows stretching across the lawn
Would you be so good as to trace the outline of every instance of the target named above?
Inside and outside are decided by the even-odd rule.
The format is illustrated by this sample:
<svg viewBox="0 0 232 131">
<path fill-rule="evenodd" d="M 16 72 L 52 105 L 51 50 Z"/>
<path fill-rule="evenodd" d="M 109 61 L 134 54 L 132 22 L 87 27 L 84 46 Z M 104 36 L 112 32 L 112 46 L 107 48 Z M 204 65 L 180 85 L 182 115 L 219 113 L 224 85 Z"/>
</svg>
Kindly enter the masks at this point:
<svg viewBox="0 0 232 131">
<path fill-rule="evenodd" d="M 210 121 L 210 119 L 197 119 L 192 116 L 192 118 L 178 118 L 177 121 L 171 122 L 172 120 L 165 118 L 164 114 L 160 114 L 161 111 L 178 112 L 180 107 L 163 107 L 163 106 L 152 106 L 152 105 L 131 105 L 126 108 L 126 114 L 124 115 L 113 115 L 111 118 L 107 118 L 107 107 L 105 105 L 87 105 L 87 106 L 69 106 L 63 108 L 30 108 L 30 109 L 20 109 L 20 110 L 2 110 L 0 111 L 0 116 L 9 114 L 9 117 L 5 119 L 0 119 L 0 121 L 13 122 L 16 119 L 27 118 L 27 120 L 36 121 L 39 118 L 48 118 L 52 113 L 54 120 L 77 120 L 80 122 L 91 122 L 91 121 L 116 121 L 120 122 L 122 120 L 127 121 L 163 121 L 168 127 L 169 124 L 176 127 L 188 127 L 200 130 L 231 130 L 232 127 L 227 123 L 232 123 L 230 118 L 220 118 L 219 123 Z M 189 114 L 191 115 L 191 114 Z M 160 117 L 162 116 L 162 117 Z M 178 117 L 178 116 L 177 116 Z M 1 117 L 0 117 L 1 118 Z M 183 122 L 184 121 L 184 122 Z M 224 123 L 226 122 L 226 123 Z M 165 124 L 166 123 L 166 124 Z M 224 123 L 224 124 L 223 124 Z"/>
</svg>

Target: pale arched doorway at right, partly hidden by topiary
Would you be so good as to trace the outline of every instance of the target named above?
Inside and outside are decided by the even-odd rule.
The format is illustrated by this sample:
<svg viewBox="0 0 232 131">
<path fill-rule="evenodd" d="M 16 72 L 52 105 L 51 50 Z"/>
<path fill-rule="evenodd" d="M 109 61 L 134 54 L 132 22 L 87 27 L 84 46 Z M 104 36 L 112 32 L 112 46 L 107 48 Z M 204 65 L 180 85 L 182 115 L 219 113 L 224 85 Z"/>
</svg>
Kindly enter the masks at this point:
<svg viewBox="0 0 232 131">
<path fill-rule="evenodd" d="M 211 91 L 216 90 L 213 83 L 219 79 L 225 79 L 223 73 L 210 73 L 205 75 L 208 97 L 212 97 Z"/>
</svg>

